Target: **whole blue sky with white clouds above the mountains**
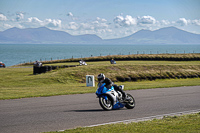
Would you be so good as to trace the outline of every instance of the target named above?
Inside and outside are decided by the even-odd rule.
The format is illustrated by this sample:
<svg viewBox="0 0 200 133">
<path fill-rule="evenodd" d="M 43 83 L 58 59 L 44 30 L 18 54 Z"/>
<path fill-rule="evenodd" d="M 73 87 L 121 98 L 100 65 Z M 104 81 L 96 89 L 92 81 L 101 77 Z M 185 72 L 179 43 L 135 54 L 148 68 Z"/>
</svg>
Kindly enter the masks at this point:
<svg viewBox="0 0 200 133">
<path fill-rule="evenodd" d="M 200 34 L 200 0 L 0 0 L 0 31 L 47 27 L 111 39 L 170 26 Z"/>
</svg>

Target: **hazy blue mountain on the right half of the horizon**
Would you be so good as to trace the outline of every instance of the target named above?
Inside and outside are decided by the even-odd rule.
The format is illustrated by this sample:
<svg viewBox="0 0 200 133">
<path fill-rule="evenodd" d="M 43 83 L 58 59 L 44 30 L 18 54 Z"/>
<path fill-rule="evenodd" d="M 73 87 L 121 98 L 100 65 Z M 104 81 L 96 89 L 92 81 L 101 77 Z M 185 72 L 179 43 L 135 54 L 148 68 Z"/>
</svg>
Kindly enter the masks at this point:
<svg viewBox="0 0 200 133">
<path fill-rule="evenodd" d="M 159 30 L 140 30 L 130 36 L 119 39 L 108 39 L 117 44 L 200 44 L 200 34 L 193 34 L 175 27 Z"/>
</svg>

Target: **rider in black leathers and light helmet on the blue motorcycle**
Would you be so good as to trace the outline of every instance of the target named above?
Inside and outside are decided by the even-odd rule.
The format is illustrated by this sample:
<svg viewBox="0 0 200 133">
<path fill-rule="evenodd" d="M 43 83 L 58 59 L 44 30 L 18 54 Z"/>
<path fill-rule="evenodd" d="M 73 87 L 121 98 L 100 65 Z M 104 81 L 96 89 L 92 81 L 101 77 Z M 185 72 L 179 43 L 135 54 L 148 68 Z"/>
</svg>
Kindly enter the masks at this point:
<svg viewBox="0 0 200 133">
<path fill-rule="evenodd" d="M 99 83 L 105 83 L 106 88 L 110 89 L 113 86 L 115 91 L 120 91 L 122 93 L 123 100 L 125 100 L 125 101 L 128 100 L 128 99 L 126 99 L 126 93 L 123 91 L 123 89 L 120 86 L 113 84 L 113 82 L 109 78 L 105 77 L 105 75 L 103 73 L 100 73 L 97 76 L 97 79 L 98 79 Z"/>
</svg>

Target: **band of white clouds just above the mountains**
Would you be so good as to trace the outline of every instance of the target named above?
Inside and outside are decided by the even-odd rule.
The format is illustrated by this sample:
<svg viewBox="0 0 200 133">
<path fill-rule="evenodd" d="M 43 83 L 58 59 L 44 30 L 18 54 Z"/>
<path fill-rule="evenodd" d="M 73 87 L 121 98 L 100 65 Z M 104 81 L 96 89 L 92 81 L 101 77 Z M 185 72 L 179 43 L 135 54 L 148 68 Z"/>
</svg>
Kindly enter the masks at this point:
<svg viewBox="0 0 200 133">
<path fill-rule="evenodd" d="M 65 18 L 27 17 L 24 12 L 17 12 L 15 15 L 5 15 L 0 13 L 0 31 L 17 27 L 38 28 L 47 27 L 53 30 L 65 31 L 72 35 L 96 34 L 103 39 L 119 38 L 131 35 L 141 29 L 156 30 L 168 26 L 185 28 L 187 26 L 200 27 L 200 19 L 178 18 L 177 20 L 157 20 L 155 17 L 116 15 L 114 18 L 96 17 L 93 19 L 83 19 L 72 12 L 65 14 Z"/>
</svg>

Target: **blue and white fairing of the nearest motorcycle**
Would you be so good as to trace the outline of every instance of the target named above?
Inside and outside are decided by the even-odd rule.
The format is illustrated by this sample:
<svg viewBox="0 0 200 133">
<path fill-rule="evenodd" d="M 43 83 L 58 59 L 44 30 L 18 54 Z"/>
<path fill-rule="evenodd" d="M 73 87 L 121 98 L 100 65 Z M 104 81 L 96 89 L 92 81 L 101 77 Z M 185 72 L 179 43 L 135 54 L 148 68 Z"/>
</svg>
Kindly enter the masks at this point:
<svg viewBox="0 0 200 133">
<path fill-rule="evenodd" d="M 98 97 L 104 97 L 105 100 L 108 100 L 108 96 L 110 96 L 112 98 L 113 109 L 123 108 L 125 106 L 124 104 L 119 102 L 119 94 L 114 90 L 113 86 L 108 89 L 105 87 L 105 83 L 99 83 L 96 95 Z"/>
</svg>

